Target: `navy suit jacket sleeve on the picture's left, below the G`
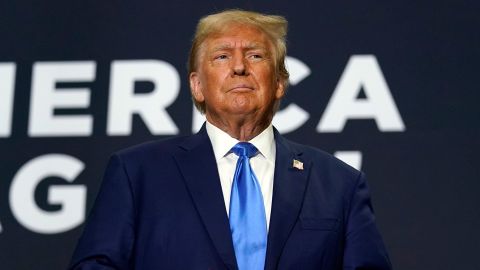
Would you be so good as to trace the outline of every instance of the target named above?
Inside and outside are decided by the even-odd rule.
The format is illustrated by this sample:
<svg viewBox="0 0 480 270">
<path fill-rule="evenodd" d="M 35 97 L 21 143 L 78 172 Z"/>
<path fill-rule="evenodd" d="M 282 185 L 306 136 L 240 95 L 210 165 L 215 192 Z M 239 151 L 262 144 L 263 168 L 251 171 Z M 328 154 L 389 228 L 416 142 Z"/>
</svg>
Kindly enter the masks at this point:
<svg viewBox="0 0 480 270">
<path fill-rule="evenodd" d="M 102 186 L 70 269 L 129 269 L 134 245 L 135 206 L 127 171 L 119 156 L 107 166 Z"/>
</svg>

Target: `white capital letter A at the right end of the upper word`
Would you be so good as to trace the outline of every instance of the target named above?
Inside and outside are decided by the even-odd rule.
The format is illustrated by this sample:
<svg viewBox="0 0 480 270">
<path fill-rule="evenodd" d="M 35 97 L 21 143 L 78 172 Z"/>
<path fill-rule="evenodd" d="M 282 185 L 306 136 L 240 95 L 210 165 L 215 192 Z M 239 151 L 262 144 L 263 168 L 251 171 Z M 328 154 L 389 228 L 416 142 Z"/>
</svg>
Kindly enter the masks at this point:
<svg viewBox="0 0 480 270">
<path fill-rule="evenodd" d="M 366 98 L 357 96 L 363 89 Z M 354 55 L 345 67 L 318 132 L 341 132 L 349 119 L 375 119 L 380 131 L 404 131 L 400 113 L 373 55 Z"/>
</svg>

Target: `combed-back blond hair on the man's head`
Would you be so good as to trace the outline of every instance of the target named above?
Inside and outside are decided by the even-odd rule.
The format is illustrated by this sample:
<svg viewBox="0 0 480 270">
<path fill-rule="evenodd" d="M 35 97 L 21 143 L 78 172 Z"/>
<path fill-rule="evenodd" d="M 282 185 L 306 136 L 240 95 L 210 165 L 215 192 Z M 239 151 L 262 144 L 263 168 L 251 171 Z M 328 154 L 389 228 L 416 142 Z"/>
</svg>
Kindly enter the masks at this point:
<svg viewBox="0 0 480 270">
<path fill-rule="evenodd" d="M 274 48 L 276 75 L 286 89 L 289 77 L 288 71 L 285 68 L 285 56 L 287 54 L 287 20 L 278 15 L 267 15 L 239 9 L 225 10 L 219 13 L 210 14 L 200 19 L 193 37 L 192 47 L 188 58 L 188 74 L 196 71 L 198 68 L 198 53 L 203 42 L 209 36 L 221 33 L 228 26 L 235 24 L 256 27 L 267 35 Z M 192 99 L 197 109 L 200 112 L 205 113 L 205 103 L 197 102 L 193 96 Z"/>
</svg>

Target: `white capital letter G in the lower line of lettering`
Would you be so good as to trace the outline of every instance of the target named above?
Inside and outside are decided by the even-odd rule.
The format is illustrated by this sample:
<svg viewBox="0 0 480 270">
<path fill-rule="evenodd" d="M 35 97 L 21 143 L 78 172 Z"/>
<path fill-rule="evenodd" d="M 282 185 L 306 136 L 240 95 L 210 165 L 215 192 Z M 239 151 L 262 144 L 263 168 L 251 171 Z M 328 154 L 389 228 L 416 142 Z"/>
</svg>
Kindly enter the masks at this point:
<svg viewBox="0 0 480 270">
<path fill-rule="evenodd" d="M 83 171 L 85 165 L 63 154 L 36 157 L 17 172 L 10 187 L 10 205 L 15 218 L 27 229 L 44 234 L 68 231 L 85 220 L 87 189 L 84 185 L 52 186 L 48 202 L 60 204 L 61 210 L 45 211 L 35 202 L 35 189 L 47 177 L 61 177 L 67 182 Z"/>
</svg>

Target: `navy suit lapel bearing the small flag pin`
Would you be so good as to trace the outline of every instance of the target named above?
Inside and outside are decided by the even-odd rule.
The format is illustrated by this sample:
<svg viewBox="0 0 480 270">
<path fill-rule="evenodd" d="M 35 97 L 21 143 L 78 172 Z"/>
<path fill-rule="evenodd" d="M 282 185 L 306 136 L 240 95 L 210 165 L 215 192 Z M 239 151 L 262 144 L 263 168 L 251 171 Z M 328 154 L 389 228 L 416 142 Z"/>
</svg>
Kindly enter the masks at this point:
<svg viewBox="0 0 480 270">
<path fill-rule="evenodd" d="M 277 269 L 283 247 L 295 225 L 307 186 L 310 164 L 275 130 L 276 159 L 272 212 L 265 269 Z M 303 162 L 293 166 L 293 160 Z"/>
</svg>

